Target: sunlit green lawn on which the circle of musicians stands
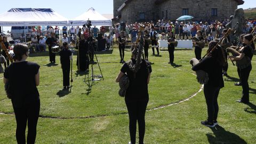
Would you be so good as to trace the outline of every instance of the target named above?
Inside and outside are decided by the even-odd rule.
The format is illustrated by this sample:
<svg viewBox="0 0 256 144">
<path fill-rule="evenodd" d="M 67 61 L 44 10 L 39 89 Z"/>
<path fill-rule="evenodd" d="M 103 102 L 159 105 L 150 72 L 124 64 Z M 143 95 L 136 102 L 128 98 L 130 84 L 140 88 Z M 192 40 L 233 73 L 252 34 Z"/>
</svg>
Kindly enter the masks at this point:
<svg viewBox="0 0 256 144">
<path fill-rule="evenodd" d="M 203 50 L 204 55 L 206 49 Z M 151 54 L 149 50 L 149 54 Z M 168 51 L 160 51 L 161 57 L 149 55 L 153 73 L 149 83 L 149 103 L 146 112 L 145 143 L 256 143 L 256 77 L 255 57 L 249 77 L 250 101 L 248 105 L 237 103 L 242 87 L 237 82 L 236 67 L 229 61 L 225 87 L 219 94 L 220 126 L 210 129 L 200 124 L 207 117 L 206 103 L 201 85 L 197 83 L 189 60 L 194 51 L 175 50 L 172 67 Z M 129 60 L 130 51 L 125 52 Z M 73 61 L 73 87 L 62 91 L 62 70 L 50 65 L 47 52 L 31 54 L 28 61 L 37 62 L 41 82 L 38 91 L 41 111 L 37 125 L 36 143 L 128 143 L 129 118 L 124 98 L 118 96 L 119 86 L 115 78 L 122 67 L 119 52 L 97 53 L 104 81 L 95 82 L 91 90 L 84 82 L 86 75 L 76 71 L 76 55 Z M 90 66 L 91 67 L 91 66 Z M 98 65 L 94 74 L 100 75 Z M 91 74 L 91 73 L 90 73 Z M 89 75 L 90 75 L 89 74 Z M 3 74 L 0 74 L 3 77 Z M 15 117 L 10 99 L 0 83 L 0 143 L 15 143 Z M 197 93 L 198 92 L 198 93 Z M 194 97 L 185 100 L 191 95 Z M 161 106 L 167 106 L 155 109 Z M 138 138 L 138 134 L 137 134 Z M 137 139 L 138 140 L 138 139 Z"/>
</svg>

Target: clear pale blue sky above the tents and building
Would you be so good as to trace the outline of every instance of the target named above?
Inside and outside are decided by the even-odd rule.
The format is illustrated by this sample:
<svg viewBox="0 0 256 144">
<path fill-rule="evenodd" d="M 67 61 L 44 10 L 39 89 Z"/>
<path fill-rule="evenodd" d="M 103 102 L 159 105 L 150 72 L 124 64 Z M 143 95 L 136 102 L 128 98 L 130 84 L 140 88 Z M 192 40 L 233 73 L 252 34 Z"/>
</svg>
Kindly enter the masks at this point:
<svg viewBox="0 0 256 144">
<path fill-rule="evenodd" d="M 51 8 L 67 19 L 76 18 L 93 7 L 100 14 L 113 14 L 113 0 L 4 0 L 1 1 L 0 14 L 11 8 Z M 244 0 L 238 8 L 248 9 L 256 7 L 256 0 Z M 5 31 L 10 28 L 4 28 Z"/>
</svg>

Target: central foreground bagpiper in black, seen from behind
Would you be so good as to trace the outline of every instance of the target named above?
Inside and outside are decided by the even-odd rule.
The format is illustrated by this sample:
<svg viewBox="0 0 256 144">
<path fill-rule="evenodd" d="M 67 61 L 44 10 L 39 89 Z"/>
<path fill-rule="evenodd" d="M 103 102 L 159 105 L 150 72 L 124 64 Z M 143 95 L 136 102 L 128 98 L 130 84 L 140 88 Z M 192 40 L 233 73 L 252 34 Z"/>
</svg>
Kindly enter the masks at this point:
<svg viewBox="0 0 256 144">
<path fill-rule="evenodd" d="M 135 143 L 137 121 L 139 125 L 139 143 L 143 143 L 145 113 L 149 100 L 148 83 L 152 71 L 149 62 L 141 60 L 141 55 L 139 57 L 137 58 L 137 49 L 134 49 L 131 60 L 124 63 L 116 78 L 116 82 L 119 82 L 120 78 L 126 73 L 130 80 L 129 87 L 125 93 L 125 103 L 129 113 L 129 130 L 132 144 Z M 133 69 L 134 65 L 139 67 L 139 69 Z"/>
</svg>

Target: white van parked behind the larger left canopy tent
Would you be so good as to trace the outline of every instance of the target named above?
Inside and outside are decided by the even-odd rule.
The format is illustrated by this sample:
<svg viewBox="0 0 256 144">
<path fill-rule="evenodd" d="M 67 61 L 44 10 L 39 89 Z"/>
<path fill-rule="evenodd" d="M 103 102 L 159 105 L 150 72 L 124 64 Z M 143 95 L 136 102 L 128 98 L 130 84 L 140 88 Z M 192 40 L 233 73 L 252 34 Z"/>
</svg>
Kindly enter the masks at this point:
<svg viewBox="0 0 256 144">
<path fill-rule="evenodd" d="M 26 39 L 31 39 L 31 27 L 12 27 L 11 28 L 11 37 L 12 39 L 24 38 L 26 34 Z"/>
</svg>

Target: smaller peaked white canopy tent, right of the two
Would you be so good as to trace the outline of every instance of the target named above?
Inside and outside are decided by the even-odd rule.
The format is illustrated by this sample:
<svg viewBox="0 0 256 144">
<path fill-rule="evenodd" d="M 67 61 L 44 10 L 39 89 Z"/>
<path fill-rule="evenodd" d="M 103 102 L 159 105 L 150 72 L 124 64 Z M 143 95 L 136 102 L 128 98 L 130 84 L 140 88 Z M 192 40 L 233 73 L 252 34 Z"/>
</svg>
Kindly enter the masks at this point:
<svg viewBox="0 0 256 144">
<path fill-rule="evenodd" d="M 92 7 L 75 19 L 69 20 L 69 26 L 82 26 L 88 19 L 92 22 L 92 26 L 111 26 L 111 20 L 103 17 Z"/>
</svg>

